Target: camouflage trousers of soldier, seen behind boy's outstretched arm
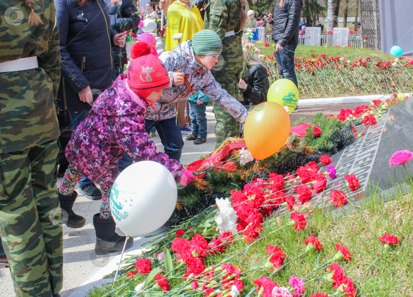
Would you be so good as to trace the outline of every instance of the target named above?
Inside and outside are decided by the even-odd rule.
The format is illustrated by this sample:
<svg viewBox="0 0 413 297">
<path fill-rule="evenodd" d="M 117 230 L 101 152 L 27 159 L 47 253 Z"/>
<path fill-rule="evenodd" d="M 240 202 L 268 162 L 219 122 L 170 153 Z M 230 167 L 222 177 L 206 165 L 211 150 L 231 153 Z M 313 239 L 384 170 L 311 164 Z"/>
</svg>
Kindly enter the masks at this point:
<svg viewBox="0 0 413 297">
<path fill-rule="evenodd" d="M 238 100 L 238 83 L 241 69 L 213 72 L 213 75 L 215 80 L 221 84 L 221 88 Z M 240 136 L 240 123 L 214 101 L 212 106 L 217 120 L 215 125 L 215 147 L 218 147 L 228 137 Z"/>
</svg>

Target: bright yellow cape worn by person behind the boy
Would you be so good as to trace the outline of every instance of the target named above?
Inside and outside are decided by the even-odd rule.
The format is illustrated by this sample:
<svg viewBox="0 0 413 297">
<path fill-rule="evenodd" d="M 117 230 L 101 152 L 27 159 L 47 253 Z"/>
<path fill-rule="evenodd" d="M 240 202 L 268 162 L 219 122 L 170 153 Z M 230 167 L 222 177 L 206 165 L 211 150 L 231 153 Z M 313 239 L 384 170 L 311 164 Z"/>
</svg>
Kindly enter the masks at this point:
<svg viewBox="0 0 413 297">
<path fill-rule="evenodd" d="M 205 29 L 201 14 L 195 5 L 190 10 L 185 5 L 173 2 L 168 8 L 167 19 L 165 51 L 171 51 L 179 44 L 177 40 L 173 40 L 174 34 L 182 33 L 180 42 L 184 42 L 192 39 L 196 32 Z"/>
</svg>

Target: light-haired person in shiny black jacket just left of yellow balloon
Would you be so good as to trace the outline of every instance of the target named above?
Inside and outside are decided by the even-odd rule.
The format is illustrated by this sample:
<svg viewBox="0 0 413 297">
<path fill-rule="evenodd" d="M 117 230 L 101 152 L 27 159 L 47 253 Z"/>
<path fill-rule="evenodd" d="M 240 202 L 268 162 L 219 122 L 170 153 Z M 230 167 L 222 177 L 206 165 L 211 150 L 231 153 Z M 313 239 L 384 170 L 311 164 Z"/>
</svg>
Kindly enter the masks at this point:
<svg viewBox="0 0 413 297">
<path fill-rule="evenodd" d="M 240 79 L 238 87 L 242 91 L 245 106 L 255 106 L 267 101 L 267 92 L 270 88 L 267 69 L 251 51 L 244 51 L 244 60 L 248 61 L 247 73 Z"/>
</svg>

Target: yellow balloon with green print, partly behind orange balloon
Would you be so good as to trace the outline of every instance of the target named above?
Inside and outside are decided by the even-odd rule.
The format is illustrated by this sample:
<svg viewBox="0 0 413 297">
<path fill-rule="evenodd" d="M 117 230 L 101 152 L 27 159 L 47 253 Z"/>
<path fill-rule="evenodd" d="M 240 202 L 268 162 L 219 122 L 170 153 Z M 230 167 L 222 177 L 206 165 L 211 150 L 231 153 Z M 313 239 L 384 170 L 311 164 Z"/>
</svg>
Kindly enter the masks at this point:
<svg viewBox="0 0 413 297">
<path fill-rule="evenodd" d="M 280 79 L 272 83 L 267 93 L 267 101 L 287 106 L 291 113 L 298 103 L 297 86 L 288 79 Z"/>
</svg>

